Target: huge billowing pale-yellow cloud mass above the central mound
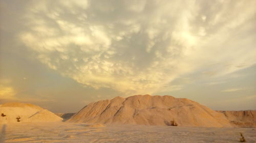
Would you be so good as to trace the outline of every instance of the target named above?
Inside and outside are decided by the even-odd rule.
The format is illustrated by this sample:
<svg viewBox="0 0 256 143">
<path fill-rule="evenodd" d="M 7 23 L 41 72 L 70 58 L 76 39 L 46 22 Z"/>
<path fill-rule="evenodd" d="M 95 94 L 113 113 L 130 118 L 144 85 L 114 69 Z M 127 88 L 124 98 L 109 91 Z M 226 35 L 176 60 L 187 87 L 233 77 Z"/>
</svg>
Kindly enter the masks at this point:
<svg viewBox="0 0 256 143">
<path fill-rule="evenodd" d="M 35 1 L 19 38 L 77 82 L 151 94 L 185 74 L 224 76 L 255 63 L 255 1 L 210 3 Z"/>
</svg>

